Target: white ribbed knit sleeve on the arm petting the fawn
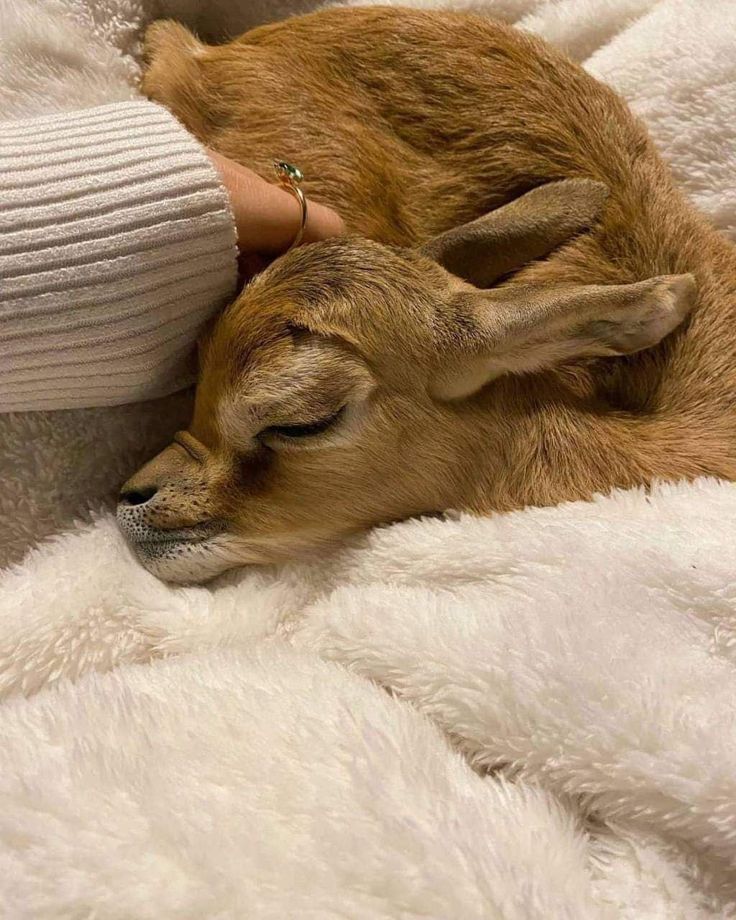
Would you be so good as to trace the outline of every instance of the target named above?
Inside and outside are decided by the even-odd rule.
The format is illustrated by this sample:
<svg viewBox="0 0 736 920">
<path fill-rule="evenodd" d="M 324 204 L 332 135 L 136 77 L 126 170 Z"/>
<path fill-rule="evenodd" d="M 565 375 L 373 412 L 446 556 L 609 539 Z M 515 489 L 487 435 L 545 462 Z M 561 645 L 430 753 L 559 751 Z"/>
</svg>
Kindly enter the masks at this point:
<svg viewBox="0 0 736 920">
<path fill-rule="evenodd" d="M 146 101 L 0 125 L 0 411 L 117 405 L 192 379 L 232 295 L 209 158 Z"/>
</svg>

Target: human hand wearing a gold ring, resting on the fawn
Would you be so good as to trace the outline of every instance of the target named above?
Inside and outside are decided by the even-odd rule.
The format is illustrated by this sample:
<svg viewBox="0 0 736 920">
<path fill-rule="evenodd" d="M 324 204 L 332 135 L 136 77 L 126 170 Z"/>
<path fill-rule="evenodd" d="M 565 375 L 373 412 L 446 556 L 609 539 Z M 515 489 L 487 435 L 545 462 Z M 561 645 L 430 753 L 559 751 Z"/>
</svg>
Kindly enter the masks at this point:
<svg viewBox="0 0 736 920">
<path fill-rule="evenodd" d="M 281 186 L 262 179 L 252 169 L 207 151 L 222 176 L 235 218 L 238 247 L 246 271 L 285 252 L 299 230 L 300 209 L 296 198 Z M 345 233 L 342 218 L 331 208 L 309 201 L 303 243 Z"/>
</svg>

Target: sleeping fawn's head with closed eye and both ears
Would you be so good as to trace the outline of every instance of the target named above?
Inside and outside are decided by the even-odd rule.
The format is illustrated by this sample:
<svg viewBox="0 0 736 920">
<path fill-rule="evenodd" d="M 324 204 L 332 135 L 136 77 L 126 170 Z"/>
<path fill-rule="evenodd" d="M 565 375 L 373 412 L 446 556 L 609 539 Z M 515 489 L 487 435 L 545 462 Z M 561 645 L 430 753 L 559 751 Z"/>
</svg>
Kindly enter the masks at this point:
<svg viewBox="0 0 736 920">
<path fill-rule="evenodd" d="M 203 341 L 189 431 L 123 489 L 144 565 L 202 581 L 472 504 L 507 436 L 490 381 L 646 348 L 690 307 L 690 276 L 488 289 L 604 198 L 567 180 L 421 250 L 334 240 L 274 263 Z"/>
</svg>

